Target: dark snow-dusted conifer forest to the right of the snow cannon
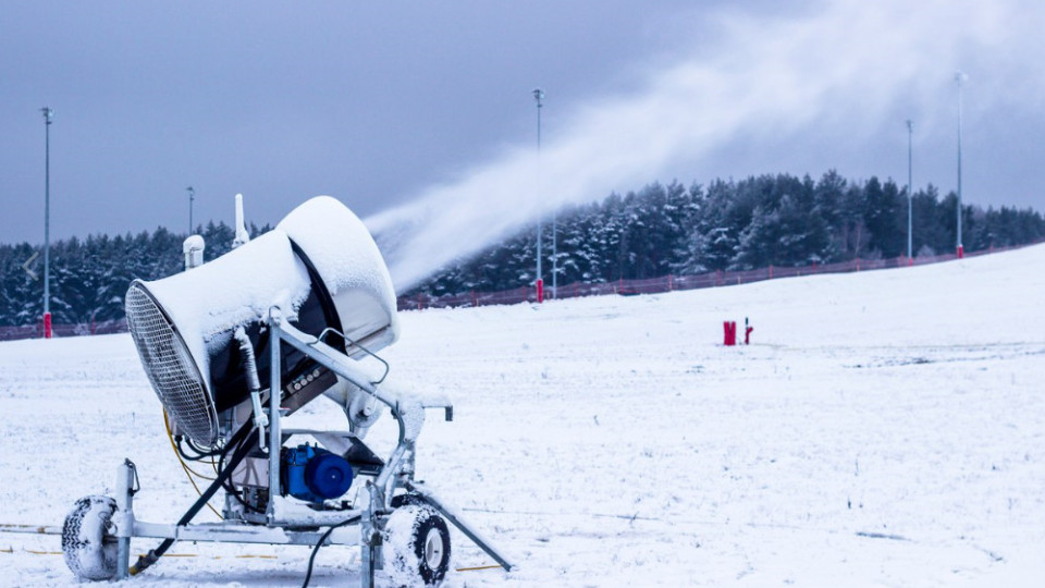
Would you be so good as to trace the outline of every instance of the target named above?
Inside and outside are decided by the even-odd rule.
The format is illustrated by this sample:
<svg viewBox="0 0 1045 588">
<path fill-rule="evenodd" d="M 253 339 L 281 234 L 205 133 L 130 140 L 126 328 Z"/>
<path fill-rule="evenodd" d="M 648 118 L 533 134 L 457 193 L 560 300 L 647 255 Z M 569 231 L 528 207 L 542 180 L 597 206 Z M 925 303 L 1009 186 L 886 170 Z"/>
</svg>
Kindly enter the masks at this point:
<svg viewBox="0 0 1045 588">
<path fill-rule="evenodd" d="M 952 253 L 957 196 L 914 193 L 914 255 Z M 557 216 L 558 283 L 610 282 L 668 273 L 807 266 L 907 254 L 906 186 L 837 172 L 715 180 L 689 187 L 654 183 Z M 1030 243 L 1045 220 L 1030 209 L 962 206 L 967 250 Z M 544 219 L 543 272 L 552 282 L 552 219 Z M 499 291 L 532 283 L 537 228 L 437 273 L 415 292 Z"/>
</svg>

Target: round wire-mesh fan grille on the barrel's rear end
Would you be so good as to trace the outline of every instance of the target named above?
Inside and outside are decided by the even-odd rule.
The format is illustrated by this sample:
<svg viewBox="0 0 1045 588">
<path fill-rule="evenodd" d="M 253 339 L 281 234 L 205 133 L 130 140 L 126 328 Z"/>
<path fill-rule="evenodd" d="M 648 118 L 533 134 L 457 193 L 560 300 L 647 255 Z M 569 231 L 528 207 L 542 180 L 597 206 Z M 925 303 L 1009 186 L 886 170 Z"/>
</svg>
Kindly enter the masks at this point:
<svg viewBox="0 0 1045 588">
<path fill-rule="evenodd" d="M 138 282 L 127 290 L 127 324 L 142 367 L 177 428 L 197 444 L 218 440 L 218 415 L 188 347 Z"/>
</svg>

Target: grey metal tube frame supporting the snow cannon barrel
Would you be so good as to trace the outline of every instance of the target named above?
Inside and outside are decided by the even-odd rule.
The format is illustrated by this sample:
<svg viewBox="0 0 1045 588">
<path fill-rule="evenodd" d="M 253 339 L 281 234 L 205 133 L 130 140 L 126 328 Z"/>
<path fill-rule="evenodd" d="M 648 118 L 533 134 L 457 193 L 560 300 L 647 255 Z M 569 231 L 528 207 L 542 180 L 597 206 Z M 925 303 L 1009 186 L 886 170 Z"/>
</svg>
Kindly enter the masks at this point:
<svg viewBox="0 0 1045 588">
<path fill-rule="evenodd" d="M 269 402 L 267 415 L 270 499 L 266 512 L 266 523 L 250 524 L 242 520 L 226 520 L 207 524 L 163 525 L 137 520 L 134 517 L 133 509 L 133 497 L 137 491 L 137 473 L 134 464 L 124 461 L 118 469 L 116 512 L 112 517 L 112 526 L 109 529 L 118 541 L 116 579 L 124 579 L 130 574 L 132 537 L 297 546 L 315 546 L 323 540 L 324 546 L 358 544 L 362 555 L 361 586 L 362 588 L 372 588 L 374 571 L 381 567 L 381 529 L 384 517 L 394 510 L 392 497 L 399 488 L 419 495 L 421 500 L 441 513 L 450 524 L 457 527 L 466 537 L 493 558 L 505 571 L 512 569 L 513 566 L 507 559 L 495 551 L 489 541 L 464 523 L 456 512 L 447 507 L 431 490 L 414 481 L 414 448 L 425 421 L 425 409 L 442 408 L 445 411 L 446 420 L 451 420 L 453 418 L 453 405 L 445 399 L 423 400 L 414 395 L 398 394 L 395 391 L 386 390 L 384 387 L 379 390 L 377 385 L 379 382 L 371 382 L 366 373 L 353 362 L 349 362 L 343 352 L 336 351 L 324 344 L 320 339 L 306 334 L 284 321 L 279 308 L 270 310 L 266 323 L 270 330 L 270 341 L 272 342 L 270 345 L 272 371 L 269 397 L 276 399 L 275 402 Z M 279 402 L 282 397 L 281 345 L 279 342 L 287 343 L 380 401 L 391 409 L 392 416 L 395 417 L 398 425 L 398 442 L 395 449 L 376 478 L 366 482 L 366 504 L 358 509 L 335 511 L 336 517 L 330 515 L 331 520 L 329 523 L 325 520 L 317 523 L 316 517 L 310 517 L 308 520 L 295 520 L 293 517 L 281 518 L 276 512 L 278 502 L 285 500 L 280 497 L 280 448 L 283 445 L 285 437 L 281 418 L 285 411 L 280 408 Z M 254 416 L 257 419 L 259 415 L 255 414 Z M 261 421 L 263 422 L 263 419 Z M 287 431 L 291 434 L 303 432 L 322 434 L 327 431 Z M 265 434 L 263 426 L 259 429 L 259 434 Z M 260 444 L 263 445 L 263 442 Z M 358 517 L 358 523 L 355 523 L 359 527 L 358 531 L 354 531 L 351 525 L 337 526 L 330 529 L 329 534 L 319 528 L 331 527 L 353 517 Z M 324 535 L 327 535 L 327 538 L 322 539 Z"/>
</svg>

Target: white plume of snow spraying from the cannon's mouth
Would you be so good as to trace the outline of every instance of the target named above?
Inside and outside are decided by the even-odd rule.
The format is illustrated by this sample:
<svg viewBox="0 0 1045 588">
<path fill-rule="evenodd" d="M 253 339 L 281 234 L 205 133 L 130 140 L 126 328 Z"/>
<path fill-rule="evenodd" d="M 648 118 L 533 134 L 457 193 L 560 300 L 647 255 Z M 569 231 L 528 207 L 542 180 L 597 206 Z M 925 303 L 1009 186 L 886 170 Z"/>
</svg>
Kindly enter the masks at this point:
<svg viewBox="0 0 1045 588">
<path fill-rule="evenodd" d="M 530 138 L 367 225 L 403 292 L 564 205 L 667 174 L 824 171 L 838 166 L 839 151 L 861 158 L 863 140 L 906 118 L 949 132 L 957 70 L 979 86 L 979 108 L 1026 111 L 1045 94 L 1033 65 L 1043 53 L 1035 30 L 1043 16 L 1034 2 L 974 0 L 701 14 L 700 29 L 712 38 L 698 39 L 639 91 L 573 109 L 565 126 L 545 135 L 540 156 Z"/>
</svg>

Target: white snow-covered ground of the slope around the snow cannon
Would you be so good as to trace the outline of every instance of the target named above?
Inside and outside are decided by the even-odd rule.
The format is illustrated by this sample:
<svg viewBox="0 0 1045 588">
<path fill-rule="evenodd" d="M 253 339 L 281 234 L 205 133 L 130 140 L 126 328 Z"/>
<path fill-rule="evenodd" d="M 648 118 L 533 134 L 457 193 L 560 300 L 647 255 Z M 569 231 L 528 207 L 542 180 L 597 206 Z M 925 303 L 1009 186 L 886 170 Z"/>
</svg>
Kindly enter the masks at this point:
<svg viewBox="0 0 1045 588">
<path fill-rule="evenodd" d="M 1045 247 L 899 270 L 402 315 L 397 381 L 446 393 L 419 477 L 516 571 L 447 586 L 1041 586 Z M 753 344 L 723 347 L 750 317 Z M 300 417 L 342 427 L 325 401 Z M 383 419 L 391 428 L 391 419 Z M 378 444 L 390 439 L 374 431 Z M 60 525 L 137 463 L 195 492 L 126 335 L 0 343 L 0 524 Z M 199 520 L 213 519 L 208 511 Z M 490 564 L 455 536 L 455 565 Z M 135 552 L 155 541 L 135 541 Z M 75 580 L 0 532 L 0 585 Z M 128 586 L 299 586 L 305 548 L 176 544 Z M 358 581 L 325 548 L 314 586 Z"/>
</svg>

